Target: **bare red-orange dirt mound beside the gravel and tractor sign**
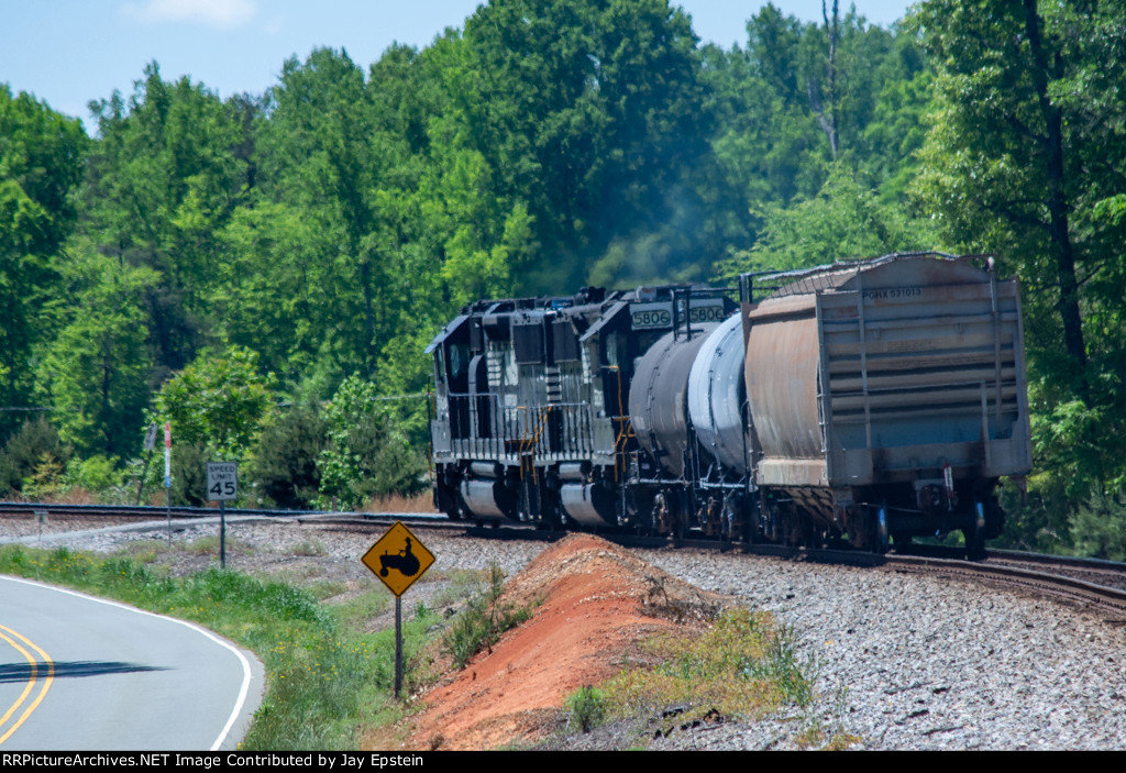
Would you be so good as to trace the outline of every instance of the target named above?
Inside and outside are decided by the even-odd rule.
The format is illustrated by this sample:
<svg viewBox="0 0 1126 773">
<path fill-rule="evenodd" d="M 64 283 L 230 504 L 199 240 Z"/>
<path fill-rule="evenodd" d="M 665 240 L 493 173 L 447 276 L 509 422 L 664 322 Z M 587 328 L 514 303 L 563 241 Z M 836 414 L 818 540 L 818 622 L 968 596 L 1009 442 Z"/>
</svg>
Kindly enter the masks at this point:
<svg viewBox="0 0 1126 773">
<path fill-rule="evenodd" d="M 501 603 L 533 605 L 508 631 L 422 700 L 411 749 L 489 749 L 538 740 L 557 727 L 564 699 L 618 673 L 635 645 L 715 609 L 694 588 L 610 542 L 573 534 L 544 550 L 504 588 Z"/>
</svg>

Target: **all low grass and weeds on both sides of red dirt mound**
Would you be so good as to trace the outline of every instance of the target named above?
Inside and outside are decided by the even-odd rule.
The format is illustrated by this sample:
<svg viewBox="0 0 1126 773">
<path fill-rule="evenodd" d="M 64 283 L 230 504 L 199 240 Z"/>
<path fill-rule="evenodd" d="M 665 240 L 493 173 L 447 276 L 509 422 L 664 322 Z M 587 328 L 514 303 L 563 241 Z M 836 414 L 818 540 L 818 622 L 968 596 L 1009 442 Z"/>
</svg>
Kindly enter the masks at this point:
<svg viewBox="0 0 1126 773">
<path fill-rule="evenodd" d="M 315 577 L 265 579 L 218 568 L 171 576 L 161 565 L 167 550 L 157 541 L 113 556 L 3 546 L 0 574 L 190 620 L 256 653 L 267 690 L 240 748 L 357 749 L 364 738 L 397 740 L 400 721 L 415 709 L 393 698 L 393 627 L 373 630 L 372 621 L 393 604 L 384 588 L 342 594 L 341 583 Z M 440 677 L 448 664 L 464 667 L 534 612 L 502 603 L 503 573 L 497 566 L 428 579 L 444 582 L 444 588 L 432 606 L 404 610 L 404 695 Z M 436 611 L 450 609 L 456 613 Z M 718 613 L 703 633 L 646 640 L 634 665 L 577 691 L 563 708 L 571 732 L 617 720 L 652 729 L 655 719 L 668 730 L 709 718 L 754 720 L 781 712 L 793 717 L 799 744 L 848 747 L 857 738 L 844 732 L 843 722 L 823 727 L 812 718 L 815 681 L 816 663 L 798 654 L 792 630 L 769 612 L 733 610 Z M 843 692 L 839 702 L 843 707 Z"/>
</svg>

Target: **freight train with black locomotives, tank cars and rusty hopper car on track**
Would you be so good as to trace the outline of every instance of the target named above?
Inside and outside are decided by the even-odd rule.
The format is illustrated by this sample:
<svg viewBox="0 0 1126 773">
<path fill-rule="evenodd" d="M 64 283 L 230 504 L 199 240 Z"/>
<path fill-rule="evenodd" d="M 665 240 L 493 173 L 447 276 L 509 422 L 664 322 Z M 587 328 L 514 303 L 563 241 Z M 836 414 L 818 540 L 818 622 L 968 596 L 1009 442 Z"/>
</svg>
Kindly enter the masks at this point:
<svg viewBox="0 0 1126 773">
<path fill-rule="evenodd" d="M 993 260 L 900 253 L 481 300 L 434 339 L 452 519 L 883 552 L 1001 533 L 1031 468 L 1020 294 Z"/>
</svg>

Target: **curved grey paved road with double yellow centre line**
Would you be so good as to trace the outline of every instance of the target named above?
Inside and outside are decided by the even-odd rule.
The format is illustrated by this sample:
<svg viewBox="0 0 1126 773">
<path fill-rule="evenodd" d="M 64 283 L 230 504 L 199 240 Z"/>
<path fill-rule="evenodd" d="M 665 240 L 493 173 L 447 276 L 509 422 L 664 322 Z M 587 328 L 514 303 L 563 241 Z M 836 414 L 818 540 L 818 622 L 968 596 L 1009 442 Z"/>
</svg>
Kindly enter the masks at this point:
<svg viewBox="0 0 1126 773">
<path fill-rule="evenodd" d="M 262 682 L 197 626 L 0 576 L 0 752 L 235 748 Z"/>
</svg>

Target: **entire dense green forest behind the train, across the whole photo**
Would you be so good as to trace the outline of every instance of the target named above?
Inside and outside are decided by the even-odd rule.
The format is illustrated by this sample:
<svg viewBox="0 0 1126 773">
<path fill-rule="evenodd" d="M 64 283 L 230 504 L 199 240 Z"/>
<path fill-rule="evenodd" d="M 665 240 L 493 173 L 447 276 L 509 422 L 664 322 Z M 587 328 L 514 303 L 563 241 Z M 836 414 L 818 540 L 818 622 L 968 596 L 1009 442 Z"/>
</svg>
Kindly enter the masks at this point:
<svg viewBox="0 0 1126 773">
<path fill-rule="evenodd" d="M 3 86 L 0 484 L 39 451 L 124 475 L 159 414 L 274 502 L 410 488 L 464 304 L 942 249 L 1022 282 L 1013 539 L 1126 554 L 1092 525 L 1126 523 L 1123 0 L 822 8 L 724 50 L 668 0 L 491 0 L 260 95 L 152 62 L 93 136 Z"/>
</svg>

